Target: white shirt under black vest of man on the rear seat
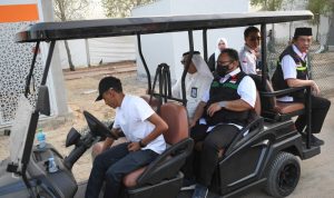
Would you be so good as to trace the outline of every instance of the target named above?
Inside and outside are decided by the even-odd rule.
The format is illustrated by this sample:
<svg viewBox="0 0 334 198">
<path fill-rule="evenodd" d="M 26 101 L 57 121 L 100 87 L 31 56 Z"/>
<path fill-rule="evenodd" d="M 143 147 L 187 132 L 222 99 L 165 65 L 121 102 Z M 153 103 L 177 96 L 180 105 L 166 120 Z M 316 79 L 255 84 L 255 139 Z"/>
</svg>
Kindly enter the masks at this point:
<svg viewBox="0 0 334 198">
<path fill-rule="evenodd" d="M 304 52 L 302 53 L 295 44 L 293 44 L 292 47 L 293 47 L 293 50 L 297 53 L 297 56 L 301 57 L 302 60 L 307 61 L 306 60 L 307 53 L 304 53 Z M 282 66 L 284 80 L 297 78 L 297 67 L 301 67 L 301 66 L 296 65 L 295 60 L 289 55 L 286 55 L 282 58 L 281 66 Z M 294 101 L 293 97 L 288 97 L 288 96 L 277 98 L 277 100 L 278 101 Z"/>
</svg>

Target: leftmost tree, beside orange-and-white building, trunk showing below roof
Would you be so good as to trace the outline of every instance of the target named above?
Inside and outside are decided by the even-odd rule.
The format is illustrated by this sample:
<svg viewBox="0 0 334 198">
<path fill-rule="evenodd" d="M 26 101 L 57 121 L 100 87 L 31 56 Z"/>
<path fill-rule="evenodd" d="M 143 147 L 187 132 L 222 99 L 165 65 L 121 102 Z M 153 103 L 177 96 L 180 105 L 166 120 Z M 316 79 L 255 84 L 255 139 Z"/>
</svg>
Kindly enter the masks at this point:
<svg viewBox="0 0 334 198">
<path fill-rule="evenodd" d="M 88 7 L 88 0 L 53 0 L 53 10 L 56 20 L 68 21 L 75 19 L 82 19 L 85 9 Z M 75 71 L 71 52 L 65 40 L 65 49 L 67 52 L 68 63 L 71 71 Z"/>
</svg>

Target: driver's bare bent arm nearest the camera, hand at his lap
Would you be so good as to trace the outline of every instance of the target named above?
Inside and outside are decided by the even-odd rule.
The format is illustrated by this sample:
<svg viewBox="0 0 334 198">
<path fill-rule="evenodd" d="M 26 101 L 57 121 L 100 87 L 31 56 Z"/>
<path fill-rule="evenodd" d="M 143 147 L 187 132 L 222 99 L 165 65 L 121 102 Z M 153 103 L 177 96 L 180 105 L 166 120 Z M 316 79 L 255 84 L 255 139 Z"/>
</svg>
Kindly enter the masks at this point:
<svg viewBox="0 0 334 198">
<path fill-rule="evenodd" d="M 154 139 L 156 139 L 158 136 L 160 136 L 163 132 L 165 132 L 168 129 L 167 123 L 157 115 L 153 113 L 150 117 L 147 118 L 148 121 L 150 121 L 154 126 L 155 129 L 145 138 L 140 140 L 140 142 L 131 142 L 128 146 L 129 151 L 136 151 L 139 150 L 140 143 L 146 146 Z"/>
</svg>

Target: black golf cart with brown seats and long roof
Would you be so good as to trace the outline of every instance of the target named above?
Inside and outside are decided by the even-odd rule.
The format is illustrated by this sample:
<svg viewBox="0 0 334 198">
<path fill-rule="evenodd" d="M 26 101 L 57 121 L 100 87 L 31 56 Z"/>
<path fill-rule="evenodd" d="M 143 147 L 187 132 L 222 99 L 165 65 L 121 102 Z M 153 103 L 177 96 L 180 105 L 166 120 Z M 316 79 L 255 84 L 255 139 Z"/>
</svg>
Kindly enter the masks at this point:
<svg viewBox="0 0 334 198">
<path fill-rule="evenodd" d="M 183 98 L 170 95 L 170 75 L 168 66 L 158 66 L 157 75 L 151 83 L 150 71 L 141 51 L 141 34 L 188 32 L 189 56 L 194 53 L 195 30 L 203 30 L 203 52 L 207 60 L 207 30 L 261 26 L 262 62 L 266 67 L 266 24 L 310 20 L 310 11 L 274 11 L 253 13 L 196 14 L 174 17 L 146 17 L 126 19 L 104 19 L 69 22 L 41 22 L 27 27 L 17 33 L 17 42 L 49 43 L 49 53 L 39 87 L 38 100 L 35 107 L 27 105 L 29 85 L 36 63 L 37 51 L 32 57 L 24 96 L 20 99 L 11 136 L 19 147 L 11 148 L 10 158 L 0 165 L 0 197 L 84 197 L 86 184 L 78 185 L 71 168 L 73 164 L 100 138 L 112 137 L 108 127 L 89 112 L 85 112 L 90 131 L 80 135 L 71 129 L 66 146 L 73 146 L 68 157 L 62 157 L 56 148 L 48 145 L 46 149 L 33 146 L 33 138 L 39 115 L 49 115 L 49 95 L 46 86 L 48 71 L 56 41 L 69 39 L 87 39 L 117 36 L 137 36 L 138 51 L 147 73 L 148 93 L 146 97 L 151 106 L 157 106 L 157 112 L 169 126 L 164 133 L 170 147 L 153 164 L 129 174 L 124 179 L 124 197 L 131 198 L 171 198 L 179 196 L 183 174 L 179 171 L 186 157 L 193 149 L 193 140 L 188 137 L 187 113 L 185 110 L 186 91 L 185 77 L 189 61 L 183 72 Z M 267 80 L 267 70 L 261 76 L 252 76 L 256 82 L 259 97 L 256 111 L 258 119 L 243 130 L 249 130 L 246 136 L 239 132 L 229 147 L 222 149 L 220 160 L 214 174 L 210 191 L 220 196 L 234 196 L 250 187 L 264 187 L 274 197 L 286 197 L 297 186 L 302 160 L 312 158 L 321 152 L 320 147 L 311 146 L 311 89 L 308 87 L 273 91 Z M 158 91 L 155 86 L 158 85 Z M 305 89 L 308 98 L 305 103 L 281 103 L 275 97 L 287 92 Z M 170 101 L 177 101 L 175 103 Z M 307 113 L 308 127 L 306 143 L 296 131 L 292 118 Z M 19 123 L 20 125 L 17 125 Z M 22 126 L 22 123 L 24 123 Z M 199 146 L 195 146 L 196 149 Z M 200 148 L 198 148 L 200 149 Z M 49 157 L 53 156 L 58 170 L 50 171 Z M 247 165 L 247 166 L 245 166 Z"/>
</svg>

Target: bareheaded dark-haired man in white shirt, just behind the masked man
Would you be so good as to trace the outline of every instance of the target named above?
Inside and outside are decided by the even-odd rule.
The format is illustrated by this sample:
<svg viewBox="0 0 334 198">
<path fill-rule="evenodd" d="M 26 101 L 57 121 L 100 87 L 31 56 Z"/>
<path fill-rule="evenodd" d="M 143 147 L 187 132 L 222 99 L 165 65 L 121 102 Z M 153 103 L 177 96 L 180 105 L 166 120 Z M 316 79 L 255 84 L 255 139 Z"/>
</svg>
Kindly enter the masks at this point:
<svg viewBox="0 0 334 198">
<path fill-rule="evenodd" d="M 261 41 L 259 30 L 256 27 L 248 27 L 244 31 L 245 46 L 239 52 L 242 69 L 245 73 L 254 73 L 257 71 L 258 47 Z"/>
</svg>

